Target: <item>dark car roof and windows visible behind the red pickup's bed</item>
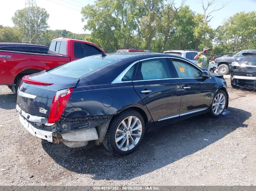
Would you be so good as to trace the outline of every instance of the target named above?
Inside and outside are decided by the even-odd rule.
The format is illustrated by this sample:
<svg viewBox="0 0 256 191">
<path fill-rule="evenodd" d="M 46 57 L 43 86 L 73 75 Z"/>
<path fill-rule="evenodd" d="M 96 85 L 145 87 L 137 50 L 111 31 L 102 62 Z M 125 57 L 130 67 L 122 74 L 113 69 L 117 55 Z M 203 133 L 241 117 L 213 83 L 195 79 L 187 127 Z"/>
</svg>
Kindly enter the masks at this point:
<svg viewBox="0 0 256 191">
<path fill-rule="evenodd" d="M 18 51 L 26 53 L 47 53 L 48 46 L 24 43 L 0 43 L 0 50 Z"/>
</svg>

